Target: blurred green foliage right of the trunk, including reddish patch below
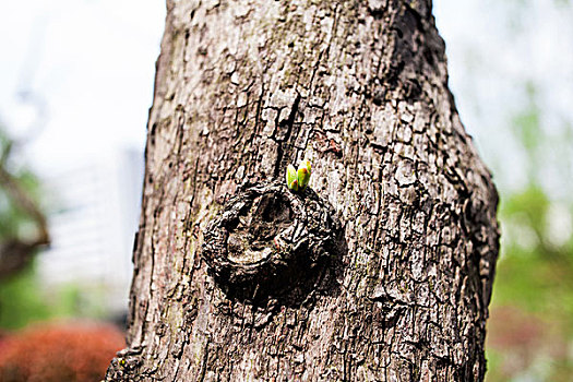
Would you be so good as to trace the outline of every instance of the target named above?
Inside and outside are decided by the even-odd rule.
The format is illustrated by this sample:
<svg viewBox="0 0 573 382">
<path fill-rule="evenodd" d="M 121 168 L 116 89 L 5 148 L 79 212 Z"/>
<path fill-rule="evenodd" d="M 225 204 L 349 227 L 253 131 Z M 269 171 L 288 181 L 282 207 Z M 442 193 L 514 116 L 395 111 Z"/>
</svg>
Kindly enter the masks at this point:
<svg viewBox="0 0 573 382">
<path fill-rule="evenodd" d="M 551 136 L 533 84 L 526 94 L 527 105 L 511 121 L 526 183 L 500 190 L 502 247 L 488 324 L 488 380 L 568 381 L 573 373 L 566 350 L 573 342 L 573 195 L 556 192 L 569 188 L 568 177 L 552 179 L 560 184 L 554 190 L 546 174 L 566 174 L 568 155 L 549 158 L 571 155 L 573 140 L 569 124 Z M 509 307 L 517 313 L 508 315 Z M 504 322 L 511 325 L 499 330 Z"/>
</svg>

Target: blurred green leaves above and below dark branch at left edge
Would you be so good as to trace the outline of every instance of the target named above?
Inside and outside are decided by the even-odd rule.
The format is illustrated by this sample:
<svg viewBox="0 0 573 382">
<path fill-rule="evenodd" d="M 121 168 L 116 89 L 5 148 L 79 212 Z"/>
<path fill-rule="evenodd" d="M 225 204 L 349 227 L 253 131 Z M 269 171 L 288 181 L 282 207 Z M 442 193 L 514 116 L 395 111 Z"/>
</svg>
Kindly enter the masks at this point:
<svg viewBox="0 0 573 382">
<path fill-rule="evenodd" d="M 0 171 L 5 180 L 0 183 L 0 246 L 5 242 L 39 243 L 38 235 L 46 229 L 38 207 L 39 182 L 29 170 L 13 163 L 12 147 L 13 142 L 0 129 Z M 29 253 L 36 251 L 37 246 L 31 246 Z M 17 255 L 27 256 L 28 253 Z M 25 261 L 22 266 L 0 277 L 1 329 L 19 329 L 79 311 L 75 302 L 77 293 L 74 295 L 73 287 L 55 290 L 52 296 L 47 296 L 37 279 L 34 261 Z"/>
</svg>

